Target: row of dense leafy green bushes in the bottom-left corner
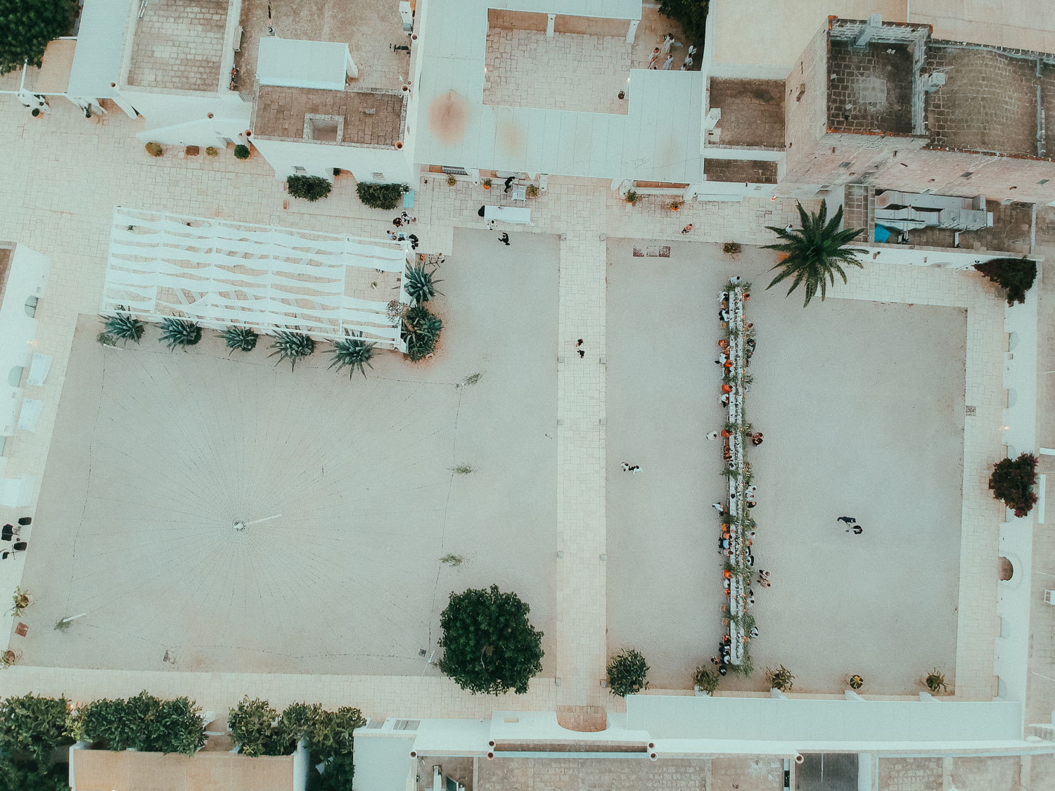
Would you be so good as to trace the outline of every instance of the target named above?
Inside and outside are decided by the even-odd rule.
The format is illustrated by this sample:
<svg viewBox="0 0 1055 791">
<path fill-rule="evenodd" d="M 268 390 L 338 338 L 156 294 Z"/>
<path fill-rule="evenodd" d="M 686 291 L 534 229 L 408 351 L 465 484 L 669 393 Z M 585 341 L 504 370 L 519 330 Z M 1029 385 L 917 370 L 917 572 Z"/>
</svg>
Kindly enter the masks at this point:
<svg viewBox="0 0 1055 791">
<path fill-rule="evenodd" d="M 267 700 L 244 698 L 228 714 L 236 750 L 247 757 L 311 754 L 310 791 L 351 787 L 352 732 L 366 724 L 358 709 L 335 711 L 292 703 L 280 714 Z M 60 748 L 193 755 L 205 746 L 202 708 L 186 697 L 161 700 L 147 692 L 128 699 L 74 706 L 65 697 L 23 695 L 0 703 L 0 788 L 60 791 L 69 774 Z"/>
</svg>

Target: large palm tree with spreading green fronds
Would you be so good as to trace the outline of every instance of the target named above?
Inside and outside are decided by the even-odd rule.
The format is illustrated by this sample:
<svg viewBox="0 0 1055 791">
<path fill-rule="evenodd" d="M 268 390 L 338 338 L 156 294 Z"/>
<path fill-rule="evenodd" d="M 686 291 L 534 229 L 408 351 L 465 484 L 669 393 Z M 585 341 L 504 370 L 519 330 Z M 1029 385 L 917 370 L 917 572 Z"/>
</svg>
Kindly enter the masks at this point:
<svg viewBox="0 0 1055 791">
<path fill-rule="evenodd" d="M 766 288 L 770 289 L 781 281 L 793 276 L 788 294 L 799 288 L 799 284 L 803 284 L 806 290 L 806 302 L 803 303 L 805 307 L 817 295 L 818 289 L 821 290 L 821 301 L 824 301 L 828 283 L 835 285 L 837 272 L 843 278 L 843 283 L 846 283 L 843 265 L 863 269 L 864 265 L 857 256 L 868 251 L 860 247 L 847 247 L 864 230 L 861 228 L 839 230 L 843 224 L 842 207 L 839 207 L 836 215 L 828 219 L 827 201 L 821 201 L 821 211 L 817 214 L 807 214 L 802 204 L 799 204 L 799 216 L 802 218 L 802 228 L 766 226 L 781 237 L 781 242 L 763 247 L 787 253 L 787 256 L 773 267 L 783 271 L 773 277 L 773 282 Z"/>
</svg>

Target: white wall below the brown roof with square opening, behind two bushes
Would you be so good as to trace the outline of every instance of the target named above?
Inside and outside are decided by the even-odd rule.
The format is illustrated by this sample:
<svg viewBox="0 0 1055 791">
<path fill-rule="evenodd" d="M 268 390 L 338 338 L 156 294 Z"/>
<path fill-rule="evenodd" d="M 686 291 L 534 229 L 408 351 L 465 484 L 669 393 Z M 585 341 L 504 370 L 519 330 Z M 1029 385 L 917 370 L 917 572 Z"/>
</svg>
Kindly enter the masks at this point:
<svg viewBox="0 0 1055 791">
<path fill-rule="evenodd" d="M 414 167 L 406 149 L 366 149 L 358 146 L 327 144 L 299 140 L 269 140 L 252 138 L 253 146 L 274 168 L 280 181 L 293 174 L 294 166 L 305 169 L 306 175 L 333 179 L 333 169 L 350 171 L 357 181 L 385 184 L 409 182 Z M 384 178 L 376 178 L 382 173 Z"/>
</svg>

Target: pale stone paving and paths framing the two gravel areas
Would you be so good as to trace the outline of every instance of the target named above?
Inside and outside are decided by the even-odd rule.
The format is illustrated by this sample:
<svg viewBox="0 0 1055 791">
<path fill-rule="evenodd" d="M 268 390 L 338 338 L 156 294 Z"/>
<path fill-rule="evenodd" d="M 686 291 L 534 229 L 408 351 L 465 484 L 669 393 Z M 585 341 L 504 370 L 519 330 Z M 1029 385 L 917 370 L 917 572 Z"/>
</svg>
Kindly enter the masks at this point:
<svg viewBox="0 0 1055 791">
<path fill-rule="evenodd" d="M 41 321 L 39 349 L 55 356 L 45 385 L 26 390 L 27 396 L 44 402 L 44 410 L 36 433 L 20 432 L 7 443 L 8 476 L 23 471 L 40 476 L 45 469 L 76 323 L 81 314 L 92 315 L 98 309 L 115 204 L 319 230 L 341 229 L 364 236 L 382 234 L 390 221 L 387 213 L 358 204 L 352 196 L 353 185 L 343 177 L 338 179 L 330 198 L 308 205 L 288 200 L 270 168 L 256 156 L 239 162 L 230 152 L 222 152 L 219 157 L 192 159 L 170 150 L 160 159 L 149 157 L 134 137 L 141 121 L 132 121 L 111 109 L 111 115 L 93 121 L 85 121 L 73 105 L 66 109 L 61 103 L 43 119 L 32 119 L 20 112 L 0 113 L 0 134 L 9 141 L 7 184 L 14 207 L 0 215 L 0 238 L 18 239 L 52 257 L 49 292 L 37 315 Z M 472 237 L 459 240 L 454 229 L 482 229 L 483 223 L 476 215 L 485 197 L 482 190 L 463 181 L 448 188 L 435 178 L 426 180 L 419 186 L 416 205 L 423 246 L 448 253 L 460 252 L 463 245 L 472 248 Z M 217 708 L 234 702 L 246 692 L 269 696 L 276 706 L 302 698 L 324 702 L 354 699 L 371 716 L 479 717 L 490 716 L 496 708 L 546 710 L 558 703 L 618 709 L 620 701 L 599 686 L 608 651 L 610 571 L 600 560 L 608 549 L 609 468 L 606 430 L 601 428 L 608 422 L 605 369 L 609 334 L 602 234 L 618 232 L 644 239 L 647 246 L 679 238 L 680 227 L 691 221 L 692 240 L 765 244 L 770 233 L 764 226 L 783 226 L 793 219 L 794 202 L 701 202 L 688 205 L 675 214 L 659 198 L 646 197 L 638 206 L 630 207 L 612 195 L 608 184 L 553 177 L 549 189 L 532 206 L 536 226 L 511 233 L 512 266 L 531 271 L 534 255 L 529 239 L 538 234 L 567 234 L 559 245 L 560 275 L 555 286 L 557 333 L 539 344 L 543 347 L 540 354 L 544 351 L 550 360 L 557 361 L 555 524 L 563 562 L 556 565 L 554 578 L 552 629 L 548 631 L 548 659 L 553 664 L 548 673 L 560 678 L 561 686 L 550 677 L 540 678 L 525 696 L 495 700 L 463 695 L 446 679 L 430 675 L 208 674 L 183 672 L 179 665 L 165 665 L 164 672 L 101 672 L 84 667 L 87 662 L 77 662 L 74 668 L 23 662 L 5 672 L 5 684 L 41 693 L 66 692 L 79 698 L 135 694 L 146 687 L 162 695 L 191 694 Z M 481 238 L 480 244 L 491 249 L 486 253 L 488 265 L 504 266 L 499 254 L 505 251 L 494 236 L 481 233 Z M 677 284 L 672 282 L 670 288 L 676 289 Z M 449 283 L 441 289 L 454 292 Z M 983 475 L 985 465 L 1000 454 L 1001 447 L 1001 304 L 977 277 L 929 268 L 906 272 L 901 266 L 878 263 L 856 274 L 849 286 L 840 289 L 840 296 L 967 308 L 966 393 L 977 407 L 978 420 L 964 426 L 956 691 L 967 698 L 987 699 L 992 694 L 997 629 L 993 617 L 993 525 L 1002 512 L 987 497 Z M 710 304 L 712 297 L 705 294 L 705 298 Z M 574 339 L 580 336 L 590 340 L 590 355 L 584 361 L 574 356 Z M 485 350 L 474 349 L 473 353 Z M 70 370 L 75 371 L 76 365 Z M 46 502 L 41 502 L 46 507 Z M 36 544 L 43 546 L 46 539 L 42 521 L 35 529 L 34 553 Z M 47 541 L 57 543 L 55 539 Z M 20 558 L 0 570 L 4 575 L 0 581 L 12 587 L 17 584 L 22 562 Z M 46 606 L 64 611 L 61 603 L 61 607 L 55 602 Z M 38 605 L 45 606 L 43 601 Z M 44 629 L 50 628 L 44 624 Z M 31 635 L 31 639 L 37 638 Z"/>
</svg>

